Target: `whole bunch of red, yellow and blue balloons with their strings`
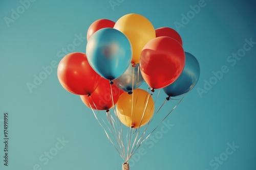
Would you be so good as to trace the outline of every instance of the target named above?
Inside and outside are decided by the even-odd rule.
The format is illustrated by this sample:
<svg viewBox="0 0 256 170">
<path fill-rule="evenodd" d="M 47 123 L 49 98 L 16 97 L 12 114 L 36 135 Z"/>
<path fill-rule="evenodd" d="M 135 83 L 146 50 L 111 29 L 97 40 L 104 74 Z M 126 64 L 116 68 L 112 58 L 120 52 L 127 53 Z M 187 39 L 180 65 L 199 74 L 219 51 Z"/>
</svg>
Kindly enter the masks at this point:
<svg viewBox="0 0 256 170">
<path fill-rule="evenodd" d="M 199 62 L 174 29 L 155 29 L 134 13 L 94 21 L 87 40 L 86 53 L 61 59 L 58 80 L 90 108 L 95 120 L 86 121 L 102 127 L 130 169 L 129 159 L 196 86 Z"/>
</svg>

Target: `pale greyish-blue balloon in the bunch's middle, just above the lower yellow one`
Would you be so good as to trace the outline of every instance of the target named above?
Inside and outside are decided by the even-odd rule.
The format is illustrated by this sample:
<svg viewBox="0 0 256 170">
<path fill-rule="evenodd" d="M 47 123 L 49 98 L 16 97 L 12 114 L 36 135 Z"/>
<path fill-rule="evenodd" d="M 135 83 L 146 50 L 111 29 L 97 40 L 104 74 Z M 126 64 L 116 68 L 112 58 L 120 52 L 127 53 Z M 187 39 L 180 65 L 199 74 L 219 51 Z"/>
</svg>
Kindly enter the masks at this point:
<svg viewBox="0 0 256 170">
<path fill-rule="evenodd" d="M 139 65 L 136 64 L 135 67 L 133 67 L 131 64 L 126 71 L 119 78 L 113 80 L 113 82 L 123 91 L 132 93 L 132 90 L 138 88 L 144 82 L 144 79 L 141 76 Z"/>
</svg>

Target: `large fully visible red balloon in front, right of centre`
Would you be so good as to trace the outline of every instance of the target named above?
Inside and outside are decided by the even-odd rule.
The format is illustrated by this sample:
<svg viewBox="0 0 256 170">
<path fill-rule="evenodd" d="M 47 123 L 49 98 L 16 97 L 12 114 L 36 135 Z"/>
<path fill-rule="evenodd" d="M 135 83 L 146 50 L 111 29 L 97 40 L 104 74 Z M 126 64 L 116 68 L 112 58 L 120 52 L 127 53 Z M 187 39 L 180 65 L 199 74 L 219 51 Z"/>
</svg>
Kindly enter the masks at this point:
<svg viewBox="0 0 256 170">
<path fill-rule="evenodd" d="M 141 75 L 153 89 L 173 83 L 185 66 L 185 52 L 173 38 L 157 37 L 149 41 L 140 56 Z"/>
</svg>

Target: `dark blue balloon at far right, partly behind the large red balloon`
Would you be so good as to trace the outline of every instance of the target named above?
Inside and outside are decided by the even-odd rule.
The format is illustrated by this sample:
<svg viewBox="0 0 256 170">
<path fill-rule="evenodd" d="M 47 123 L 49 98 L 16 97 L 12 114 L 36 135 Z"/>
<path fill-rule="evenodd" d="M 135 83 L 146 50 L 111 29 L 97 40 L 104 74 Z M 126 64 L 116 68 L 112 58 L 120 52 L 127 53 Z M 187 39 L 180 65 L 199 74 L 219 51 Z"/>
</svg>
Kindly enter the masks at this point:
<svg viewBox="0 0 256 170">
<path fill-rule="evenodd" d="M 198 82 L 200 66 L 197 59 L 190 53 L 185 52 L 186 62 L 178 79 L 163 88 L 168 96 L 178 96 L 190 91 Z"/>
</svg>

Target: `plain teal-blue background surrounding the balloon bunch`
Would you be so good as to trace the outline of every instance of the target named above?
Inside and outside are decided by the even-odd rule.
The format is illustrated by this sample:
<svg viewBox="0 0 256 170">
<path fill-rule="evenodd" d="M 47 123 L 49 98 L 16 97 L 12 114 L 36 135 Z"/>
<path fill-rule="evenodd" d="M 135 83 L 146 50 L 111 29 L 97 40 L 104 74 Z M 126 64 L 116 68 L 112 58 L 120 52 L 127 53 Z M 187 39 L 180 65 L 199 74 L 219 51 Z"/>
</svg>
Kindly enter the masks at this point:
<svg viewBox="0 0 256 170">
<path fill-rule="evenodd" d="M 64 56 L 62 48 L 72 44 L 76 35 L 86 37 L 93 21 L 116 21 L 125 14 L 138 13 L 156 29 L 179 31 L 184 50 L 200 63 L 201 77 L 167 118 L 166 122 L 174 126 L 157 142 L 144 143 L 145 154 L 133 160 L 131 169 L 255 169 L 256 44 L 233 66 L 227 61 L 243 48 L 245 39 L 256 41 L 255 2 L 206 0 L 180 29 L 175 22 L 182 23 L 182 14 L 201 1 L 118 2 L 112 8 L 108 0 L 36 0 L 27 9 L 20 8 L 17 0 L 0 2 L 0 168 L 121 169 L 122 160 L 92 111 L 79 96 L 61 87 L 56 68 L 32 91 L 27 83 L 33 83 L 34 75 L 44 71 L 43 66 L 58 63 Z M 12 17 L 12 9 L 21 14 L 8 27 L 5 19 Z M 87 41 L 81 41 L 74 51 L 85 53 Z M 214 80 L 212 71 L 221 70 L 223 65 L 229 71 L 200 96 L 197 89 Z M 160 98 L 165 97 L 160 94 Z M 9 113 L 8 167 L 2 160 L 4 112 Z M 49 162 L 40 161 L 39 157 L 62 137 L 69 142 Z M 239 148 L 225 157 L 228 142 Z M 210 165 L 220 156 L 226 160 L 218 167 Z"/>
</svg>

